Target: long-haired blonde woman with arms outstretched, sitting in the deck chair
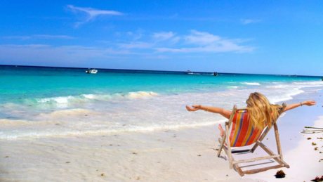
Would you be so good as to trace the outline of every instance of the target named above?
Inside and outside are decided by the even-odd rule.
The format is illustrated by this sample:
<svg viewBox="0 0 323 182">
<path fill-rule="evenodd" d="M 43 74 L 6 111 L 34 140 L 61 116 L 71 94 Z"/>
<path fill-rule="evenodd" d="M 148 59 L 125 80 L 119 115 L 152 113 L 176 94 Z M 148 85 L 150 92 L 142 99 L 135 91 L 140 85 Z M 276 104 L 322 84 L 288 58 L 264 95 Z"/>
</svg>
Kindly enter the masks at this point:
<svg viewBox="0 0 323 182">
<path fill-rule="evenodd" d="M 299 106 L 312 106 L 315 104 L 315 100 L 307 100 L 301 103 L 289 104 L 286 106 L 284 112 L 286 110 L 292 110 Z M 188 111 L 205 110 L 206 112 L 218 113 L 227 119 L 229 119 L 231 115 L 230 110 L 225 110 L 223 108 L 207 107 L 204 105 L 192 105 L 192 107 L 193 108 L 190 108 L 188 105 L 186 105 L 186 109 Z M 246 108 L 248 109 L 250 121 L 255 129 L 265 128 L 266 121 L 272 121 L 274 119 L 277 119 L 277 117 L 279 116 L 277 111 L 279 105 L 270 104 L 268 99 L 265 96 L 263 96 L 263 94 L 258 92 L 250 94 L 249 98 L 246 100 Z M 268 127 L 271 128 L 271 126 L 272 122 L 269 122 Z M 220 129 L 220 136 L 223 136 L 225 131 L 223 130 L 220 124 L 218 125 L 218 129 Z"/>
</svg>

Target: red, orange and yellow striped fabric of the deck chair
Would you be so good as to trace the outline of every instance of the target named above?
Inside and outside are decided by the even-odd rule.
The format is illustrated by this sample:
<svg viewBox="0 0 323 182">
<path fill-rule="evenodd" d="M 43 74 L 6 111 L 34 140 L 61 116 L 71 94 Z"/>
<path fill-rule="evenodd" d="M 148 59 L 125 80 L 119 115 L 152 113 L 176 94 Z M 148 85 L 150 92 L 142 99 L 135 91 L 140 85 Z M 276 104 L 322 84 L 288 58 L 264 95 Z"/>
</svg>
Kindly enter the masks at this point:
<svg viewBox="0 0 323 182">
<path fill-rule="evenodd" d="M 243 147 L 258 141 L 263 129 L 253 129 L 252 125 L 248 118 L 248 110 L 237 110 L 232 121 L 231 147 Z"/>
</svg>

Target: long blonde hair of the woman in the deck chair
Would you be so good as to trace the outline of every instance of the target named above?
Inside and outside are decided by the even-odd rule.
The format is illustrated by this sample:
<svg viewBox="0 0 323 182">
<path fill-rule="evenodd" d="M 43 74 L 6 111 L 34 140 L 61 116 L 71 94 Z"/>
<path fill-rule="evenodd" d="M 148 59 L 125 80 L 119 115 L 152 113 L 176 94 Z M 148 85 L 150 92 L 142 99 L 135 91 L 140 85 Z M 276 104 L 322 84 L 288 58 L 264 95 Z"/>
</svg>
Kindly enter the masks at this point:
<svg viewBox="0 0 323 182">
<path fill-rule="evenodd" d="M 251 93 L 246 100 L 246 105 L 254 129 L 264 129 L 266 124 L 270 129 L 272 122 L 279 117 L 277 111 L 279 105 L 270 104 L 268 99 L 261 93 Z"/>
</svg>

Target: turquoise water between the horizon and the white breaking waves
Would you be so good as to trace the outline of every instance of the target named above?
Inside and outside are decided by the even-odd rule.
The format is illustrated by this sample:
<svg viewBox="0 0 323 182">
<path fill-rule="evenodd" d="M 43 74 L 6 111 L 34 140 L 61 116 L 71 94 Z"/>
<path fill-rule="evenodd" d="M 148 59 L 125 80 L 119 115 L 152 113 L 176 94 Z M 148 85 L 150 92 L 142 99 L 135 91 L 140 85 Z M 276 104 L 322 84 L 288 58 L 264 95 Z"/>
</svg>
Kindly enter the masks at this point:
<svg viewBox="0 0 323 182">
<path fill-rule="evenodd" d="M 320 77 L 281 77 L 275 75 L 220 74 L 145 74 L 99 70 L 85 74 L 85 69 L 0 67 L 0 103 L 20 103 L 25 99 L 153 91 L 160 94 L 221 91 L 234 86 L 247 88 L 272 82 L 313 82 Z M 249 83 L 249 84 L 246 84 Z M 254 85 L 252 83 L 255 83 Z M 258 84 L 257 84 L 258 83 Z"/>
</svg>

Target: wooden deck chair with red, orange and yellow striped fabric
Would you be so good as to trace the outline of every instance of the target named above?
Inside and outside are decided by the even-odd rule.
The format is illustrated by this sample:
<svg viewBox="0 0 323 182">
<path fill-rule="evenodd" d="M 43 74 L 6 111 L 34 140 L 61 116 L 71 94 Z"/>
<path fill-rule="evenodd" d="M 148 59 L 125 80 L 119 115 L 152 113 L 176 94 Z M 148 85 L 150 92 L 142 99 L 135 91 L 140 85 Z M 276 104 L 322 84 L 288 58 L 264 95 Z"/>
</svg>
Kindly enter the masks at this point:
<svg viewBox="0 0 323 182">
<path fill-rule="evenodd" d="M 286 108 L 286 103 L 282 104 L 282 107 L 279 108 L 279 115 L 282 114 L 284 109 Z M 237 105 L 233 107 L 233 110 L 230 115 L 229 122 L 225 122 L 225 134 L 223 135 L 222 138 L 219 138 L 220 142 L 220 148 L 218 150 L 218 157 L 220 157 L 221 150 L 224 150 L 225 153 L 229 157 L 229 162 L 230 162 L 230 169 L 235 169 L 240 176 L 244 176 L 244 174 L 255 174 L 261 171 L 267 171 L 269 169 L 277 169 L 280 167 L 286 167 L 289 168 L 289 164 L 286 164 L 284 162 L 283 157 L 282 157 L 282 148 L 280 145 L 279 141 L 279 134 L 278 134 L 278 128 L 277 128 L 277 120 L 272 121 L 272 125 L 274 126 L 275 129 L 275 137 L 276 137 L 276 142 L 277 142 L 277 152 L 278 155 L 275 155 L 272 150 L 270 150 L 268 147 L 266 147 L 261 141 L 263 141 L 263 138 L 268 134 L 268 127 L 265 127 L 263 130 L 257 130 L 253 129 L 253 126 L 251 122 L 249 122 L 248 118 L 248 110 L 246 108 L 241 108 L 237 109 Z M 231 132 L 229 131 L 230 126 L 232 125 L 232 130 Z M 227 137 L 229 136 L 229 137 Z M 232 147 L 243 147 L 247 145 L 253 145 L 253 148 L 249 150 L 235 150 L 231 151 Z M 260 146 L 265 150 L 265 152 L 268 153 L 269 156 L 266 157 L 257 157 L 257 158 L 252 158 L 248 160 L 234 160 L 232 157 L 232 153 L 239 153 L 239 152 L 253 152 L 256 150 L 256 148 Z M 238 166 L 239 163 L 244 163 L 244 162 L 254 162 L 258 160 L 268 160 L 268 159 L 274 159 L 276 162 L 279 163 L 279 165 L 275 165 L 272 167 L 263 167 L 261 169 L 252 169 L 248 171 L 242 171 L 240 167 Z"/>
</svg>

